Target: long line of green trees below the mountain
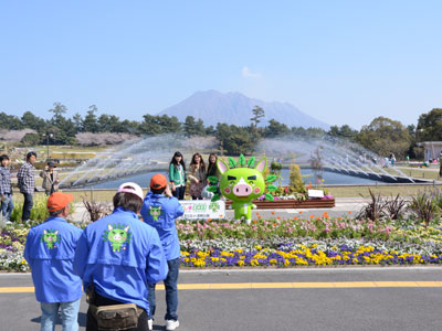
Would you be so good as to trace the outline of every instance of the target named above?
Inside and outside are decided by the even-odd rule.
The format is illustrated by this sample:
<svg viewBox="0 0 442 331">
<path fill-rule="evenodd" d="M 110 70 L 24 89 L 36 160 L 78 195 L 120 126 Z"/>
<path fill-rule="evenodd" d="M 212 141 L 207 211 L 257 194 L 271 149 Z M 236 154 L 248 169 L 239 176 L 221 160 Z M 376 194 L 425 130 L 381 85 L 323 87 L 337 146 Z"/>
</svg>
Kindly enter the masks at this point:
<svg viewBox="0 0 442 331">
<path fill-rule="evenodd" d="M 33 129 L 35 132 L 23 137 L 25 145 L 75 145 L 77 135 L 91 134 L 129 134 L 136 136 L 156 136 L 161 134 L 181 134 L 187 137 L 214 136 L 229 154 L 253 152 L 256 143 L 264 138 L 296 136 L 298 138 L 336 138 L 345 139 L 371 150 L 379 156 L 394 153 L 398 158 L 409 156 L 421 158 L 421 141 L 442 141 L 442 108 L 433 108 L 419 117 L 417 125 L 404 126 L 398 120 L 377 117 L 358 131 L 348 125 L 332 126 L 328 130 L 320 128 L 287 127 L 283 122 L 270 119 L 266 126 L 260 126 L 265 110 L 259 106 L 251 109 L 249 126 L 218 124 L 204 126 L 201 119 L 187 116 L 181 122 L 175 116 L 144 115 L 141 121 L 119 119 L 115 115 L 102 114 L 95 105 L 90 106 L 86 115 L 78 113 L 66 118 L 67 108 L 55 103 L 49 110 L 50 119 L 43 119 L 25 111 L 22 117 L 0 113 L 0 128 L 7 130 Z"/>
</svg>

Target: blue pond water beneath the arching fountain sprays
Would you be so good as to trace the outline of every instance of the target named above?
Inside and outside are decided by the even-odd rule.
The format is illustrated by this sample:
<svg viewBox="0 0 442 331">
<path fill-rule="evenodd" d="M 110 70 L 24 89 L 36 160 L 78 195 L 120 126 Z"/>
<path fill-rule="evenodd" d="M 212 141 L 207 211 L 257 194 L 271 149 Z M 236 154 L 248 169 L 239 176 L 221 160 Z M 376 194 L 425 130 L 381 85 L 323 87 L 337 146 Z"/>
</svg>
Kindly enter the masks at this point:
<svg viewBox="0 0 442 331">
<path fill-rule="evenodd" d="M 159 171 L 166 177 L 168 175 L 167 171 Z M 135 175 L 130 175 L 127 178 L 119 178 L 113 181 L 108 182 L 103 182 L 103 183 L 95 183 L 93 186 L 94 189 L 117 189 L 120 184 L 125 182 L 135 182 L 139 184 L 141 188 L 147 188 L 149 186 L 150 178 L 155 174 L 158 173 L 156 172 L 146 172 L 146 173 L 138 173 Z M 312 182 L 312 184 L 315 183 L 315 178 L 313 175 L 313 170 L 308 168 L 303 168 L 301 169 L 301 173 L 305 175 L 304 181 L 306 183 Z M 340 173 L 335 173 L 335 172 L 328 172 L 324 171 L 323 172 L 324 177 L 324 184 L 372 184 L 376 181 L 364 179 L 364 178 L 358 178 L 358 177 L 351 177 L 351 175 L 346 175 L 346 174 L 340 174 Z M 275 184 L 280 184 L 280 181 L 276 181 Z M 287 185 L 288 184 L 288 169 L 283 169 L 282 170 L 282 180 L 281 180 L 282 185 Z"/>
</svg>

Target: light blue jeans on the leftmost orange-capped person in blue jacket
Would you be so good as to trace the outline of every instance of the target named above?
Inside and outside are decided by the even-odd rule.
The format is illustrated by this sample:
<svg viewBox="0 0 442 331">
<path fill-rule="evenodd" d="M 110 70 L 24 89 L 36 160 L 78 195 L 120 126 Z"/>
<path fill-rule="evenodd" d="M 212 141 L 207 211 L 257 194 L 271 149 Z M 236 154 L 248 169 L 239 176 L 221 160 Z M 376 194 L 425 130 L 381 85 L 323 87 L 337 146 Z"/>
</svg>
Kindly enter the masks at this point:
<svg viewBox="0 0 442 331">
<path fill-rule="evenodd" d="M 54 331 L 59 308 L 62 311 L 62 328 L 63 331 L 78 330 L 78 309 L 80 299 L 73 302 L 40 302 L 42 309 L 41 331 Z"/>
</svg>

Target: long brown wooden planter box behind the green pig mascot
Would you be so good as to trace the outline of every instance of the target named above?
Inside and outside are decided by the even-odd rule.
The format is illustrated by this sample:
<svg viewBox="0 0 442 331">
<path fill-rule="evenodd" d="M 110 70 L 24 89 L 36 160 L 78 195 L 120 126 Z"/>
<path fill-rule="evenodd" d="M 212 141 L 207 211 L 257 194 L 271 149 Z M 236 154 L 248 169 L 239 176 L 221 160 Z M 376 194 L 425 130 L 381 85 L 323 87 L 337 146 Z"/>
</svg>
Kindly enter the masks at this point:
<svg viewBox="0 0 442 331">
<path fill-rule="evenodd" d="M 335 199 L 312 199 L 306 201 L 301 200 L 276 200 L 276 201 L 253 201 L 256 210 L 277 210 L 277 209 L 330 209 L 335 206 Z M 228 200 L 225 206 L 232 204 Z"/>
</svg>

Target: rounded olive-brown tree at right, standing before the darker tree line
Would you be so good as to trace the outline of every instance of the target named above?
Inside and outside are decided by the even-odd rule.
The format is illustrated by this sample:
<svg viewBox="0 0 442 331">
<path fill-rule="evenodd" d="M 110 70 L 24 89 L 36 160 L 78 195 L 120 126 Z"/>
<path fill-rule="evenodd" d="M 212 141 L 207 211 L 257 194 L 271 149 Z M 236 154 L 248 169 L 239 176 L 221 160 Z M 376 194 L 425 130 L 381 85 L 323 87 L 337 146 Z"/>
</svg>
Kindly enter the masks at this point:
<svg viewBox="0 0 442 331">
<path fill-rule="evenodd" d="M 410 147 L 411 137 L 400 121 L 377 117 L 362 127 L 357 141 L 379 156 L 386 157 L 392 152 L 397 158 L 403 158 Z"/>
</svg>

